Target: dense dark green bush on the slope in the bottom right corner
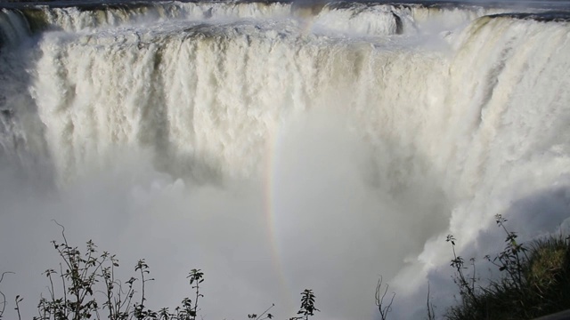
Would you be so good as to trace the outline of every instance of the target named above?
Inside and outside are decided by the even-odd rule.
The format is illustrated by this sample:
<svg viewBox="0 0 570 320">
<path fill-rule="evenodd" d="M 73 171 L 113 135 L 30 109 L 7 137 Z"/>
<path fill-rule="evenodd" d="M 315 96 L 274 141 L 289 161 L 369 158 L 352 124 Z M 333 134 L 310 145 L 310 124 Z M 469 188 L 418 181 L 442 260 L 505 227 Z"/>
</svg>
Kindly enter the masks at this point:
<svg viewBox="0 0 570 320">
<path fill-rule="evenodd" d="M 509 231 L 507 220 L 495 216 L 497 226 L 507 235 L 505 247 L 494 258 L 485 259 L 502 274 L 498 281 L 476 285 L 475 264 L 473 276 L 466 276 L 464 260 L 455 254 L 455 283 L 460 288 L 459 306 L 449 308 L 444 315 L 459 319 L 533 319 L 570 308 L 570 244 L 568 238 L 551 236 L 526 245 L 517 242 L 517 234 Z"/>
</svg>

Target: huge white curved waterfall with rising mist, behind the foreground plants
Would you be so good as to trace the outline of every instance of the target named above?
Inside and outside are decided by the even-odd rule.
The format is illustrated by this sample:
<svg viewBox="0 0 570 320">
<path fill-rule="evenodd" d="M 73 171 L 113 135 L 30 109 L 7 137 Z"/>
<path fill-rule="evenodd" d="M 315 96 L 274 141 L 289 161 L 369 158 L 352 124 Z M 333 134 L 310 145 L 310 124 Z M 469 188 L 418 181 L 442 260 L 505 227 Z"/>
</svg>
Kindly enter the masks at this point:
<svg viewBox="0 0 570 320">
<path fill-rule="evenodd" d="M 551 4 L 3 4 L 0 284 L 34 314 L 58 220 L 204 318 L 441 315 L 465 257 L 570 218 L 570 13 Z M 570 9 L 569 9 L 570 10 Z M 479 262 L 477 262 L 479 263 Z M 489 274 L 482 261 L 477 269 Z"/>
</svg>

